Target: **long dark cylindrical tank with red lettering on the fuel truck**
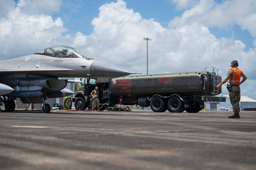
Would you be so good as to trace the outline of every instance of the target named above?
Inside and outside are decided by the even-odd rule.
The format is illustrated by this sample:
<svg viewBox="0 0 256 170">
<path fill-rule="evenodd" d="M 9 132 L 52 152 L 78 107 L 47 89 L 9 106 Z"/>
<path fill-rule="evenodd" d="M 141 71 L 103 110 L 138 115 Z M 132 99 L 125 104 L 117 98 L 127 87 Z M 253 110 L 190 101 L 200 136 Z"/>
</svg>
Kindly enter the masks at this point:
<svg viewBox="0 0 256 170">
<path fill-rule="evenodd" d="M 214 96 L 221 93 L 221 89 L 216 88 L 221 81 L 220 76 L 206 71 L 125 76 L 111 79 L 111 94 L 117 97 Z"/>
</svg>

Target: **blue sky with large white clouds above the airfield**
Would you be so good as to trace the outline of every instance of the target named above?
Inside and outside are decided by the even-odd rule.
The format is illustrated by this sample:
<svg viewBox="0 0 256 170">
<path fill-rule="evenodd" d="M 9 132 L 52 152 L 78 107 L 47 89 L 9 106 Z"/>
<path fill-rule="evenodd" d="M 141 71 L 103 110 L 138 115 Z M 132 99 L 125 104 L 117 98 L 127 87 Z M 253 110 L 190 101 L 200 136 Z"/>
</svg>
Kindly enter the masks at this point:
<svg viewBox="0 0 256 170">
<path fill-rule="evenodd" d="M 224 79 L 232 60 L 256 98 L 256 1 L 0 0 L 1 60 L 69 45 L 85 56 L 146 74 L 204 71 Z M 224 86 L 223 86 L 224 87 Z M 223 88 L 223 93 L 227 93 Z"/>
</svg>

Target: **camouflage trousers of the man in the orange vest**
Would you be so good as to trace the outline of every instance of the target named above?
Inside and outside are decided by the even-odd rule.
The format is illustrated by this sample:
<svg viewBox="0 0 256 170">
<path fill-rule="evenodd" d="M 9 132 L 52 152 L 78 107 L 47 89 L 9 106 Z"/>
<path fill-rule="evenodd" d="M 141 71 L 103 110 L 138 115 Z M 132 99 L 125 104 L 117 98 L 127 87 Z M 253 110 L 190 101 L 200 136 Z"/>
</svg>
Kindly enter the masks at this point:
<svg viewBox="0 0 256 170">
<path fill-rule="evenodd" d="M 239 101 L 240 101 L 240 87 L 233 86 L 232 91 L 229 92 L 230 103 L 233 106 L 233 112 L 240 112 Z"/>
</svg>

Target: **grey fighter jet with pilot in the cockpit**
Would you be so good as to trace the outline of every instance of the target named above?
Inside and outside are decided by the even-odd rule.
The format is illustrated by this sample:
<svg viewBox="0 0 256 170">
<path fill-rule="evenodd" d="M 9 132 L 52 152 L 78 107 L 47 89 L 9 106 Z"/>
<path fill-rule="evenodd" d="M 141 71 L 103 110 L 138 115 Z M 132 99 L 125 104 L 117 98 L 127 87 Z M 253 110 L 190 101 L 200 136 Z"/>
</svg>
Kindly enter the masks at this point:
<svg viewBox="0 0 256 170">
<path fill-rule="evenodd" d="M 70 81 L 59 77 L 115 78 L 130 74 L 136 73 L 88 58 L 73 47 L 55 46 L 1 61 L 0 99 L 7 112 L 14 111 L 14 100 L 20 98 L 23 103 L 43 103 L 42 110 L 49 113 L 51 108 L 46 103 L 47 98 L 73 94 L 65 88 Z"/>
</svg>

